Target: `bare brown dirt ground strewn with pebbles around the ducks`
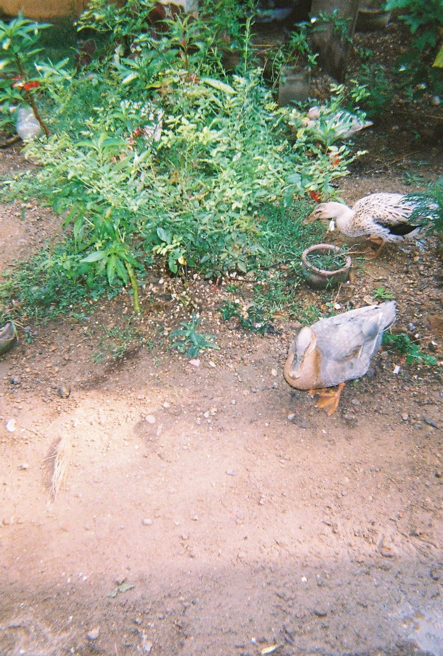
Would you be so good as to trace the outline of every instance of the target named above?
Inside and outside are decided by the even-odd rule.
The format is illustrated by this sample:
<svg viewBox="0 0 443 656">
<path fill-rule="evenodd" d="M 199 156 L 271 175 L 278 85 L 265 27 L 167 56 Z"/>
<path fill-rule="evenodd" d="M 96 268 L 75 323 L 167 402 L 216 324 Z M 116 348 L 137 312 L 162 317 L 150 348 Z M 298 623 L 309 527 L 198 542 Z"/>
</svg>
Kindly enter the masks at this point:
<svg viewBox="0 0 443 656">
<path fill-rule="evenodd" d="M 361 140 L 373 155 L 343 182 L 350 204 L 412 190 L 405 171 L 438 173 L 436 145 Z M 25 165 L 0 157 L 3 170 Z M 58 220 L 16 203 L 0 226 L 4 269 Z M 393 291 L 396 330 L 441 359 L 440 257 L 433 238 L 387 248 L 333 298 Z M 443 654 L 438 369 L 382 350 L 326 417 L 282 379 L 296 323 L 246 333 L 217 312 L 232 298 L 153 272 L 142 318 L 123 292 L 31 325 L 32 341 L 21 331 L 0 358 L 2 656 Z M 221 347 L 199 366 L 168 350 L 191 307 Z M 128 325 L 139 338 L 113 360 L 106 331 Z M 54 498 L 60 443 L 69 464 Z"/>
</svg>

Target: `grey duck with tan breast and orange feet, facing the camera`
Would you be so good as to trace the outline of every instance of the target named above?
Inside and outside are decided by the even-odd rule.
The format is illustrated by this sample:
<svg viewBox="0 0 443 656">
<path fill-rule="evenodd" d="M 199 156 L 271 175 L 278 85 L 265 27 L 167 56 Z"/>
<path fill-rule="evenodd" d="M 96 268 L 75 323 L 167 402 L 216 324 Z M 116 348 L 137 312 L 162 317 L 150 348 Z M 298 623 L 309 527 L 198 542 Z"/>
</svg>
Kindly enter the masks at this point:
<svg viewBox="0 0 443 656">
<path fill-rule="evenodd" d="M 320 396 L 332 415 L 347 380 L 365 375 L 381 336 L 395 321 L 395 301 L 368 305 L 302 328 L 292 342 L 283 375 L 292 387 Z M 326 390 L 338 385 L 337 390 Z"/>
</svg>

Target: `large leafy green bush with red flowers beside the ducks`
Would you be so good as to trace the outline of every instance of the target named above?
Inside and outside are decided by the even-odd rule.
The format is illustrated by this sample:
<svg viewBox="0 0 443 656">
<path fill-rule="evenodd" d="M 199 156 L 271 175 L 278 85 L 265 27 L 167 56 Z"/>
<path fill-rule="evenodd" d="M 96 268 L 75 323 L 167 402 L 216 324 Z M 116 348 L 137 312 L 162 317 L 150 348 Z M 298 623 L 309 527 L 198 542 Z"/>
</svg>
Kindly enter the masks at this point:
<svg viewBox="0 0 443 656">
<path fill-rule="evenodd" d="M 172 274 L 260 268 L 272 249 L 258 217 L 309 192 L 336 195 L 355 156 L 327 121 L 294 139 L 291 111 L 250 66 L 249 21 L 238 23 L 244 74 L 228 78 L 201 21 L 168 20 L 152 36 L 152 7 L 88 5 L 79 28 L 104 35 L 106 54 L 54 85 L 52 134 L 26 146 L 38 166 L 6 184 L 10 198 L 37 197 L 64 215 L 54 271 L 87 287 L 130 285 L 136 312 L 154 258 Z M 337 92 L 331 111 L 342 100 Z"/>
</svg>

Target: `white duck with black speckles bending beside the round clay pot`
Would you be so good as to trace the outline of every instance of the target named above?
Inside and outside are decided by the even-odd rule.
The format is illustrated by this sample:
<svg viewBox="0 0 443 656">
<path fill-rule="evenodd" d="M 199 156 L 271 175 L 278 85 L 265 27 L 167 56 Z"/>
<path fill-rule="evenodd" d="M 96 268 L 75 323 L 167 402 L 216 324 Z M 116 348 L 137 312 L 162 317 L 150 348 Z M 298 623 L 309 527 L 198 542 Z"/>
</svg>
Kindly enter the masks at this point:
<svg viewBox="0 0 443 656">
<path fill-rule="evenodd" d="M 368 237 L 379 243 L 377 257 L 387 241 L 403 241 L 420 231 L 416 219 L 410 221 L 414 201 L 402 194 L 370 194 L 356 201 L 351 209 L 343 203 L 320 203 L 305 225 L 318 219 L 335 220 L 337 230 L 347 237 Z"/>
</svg>

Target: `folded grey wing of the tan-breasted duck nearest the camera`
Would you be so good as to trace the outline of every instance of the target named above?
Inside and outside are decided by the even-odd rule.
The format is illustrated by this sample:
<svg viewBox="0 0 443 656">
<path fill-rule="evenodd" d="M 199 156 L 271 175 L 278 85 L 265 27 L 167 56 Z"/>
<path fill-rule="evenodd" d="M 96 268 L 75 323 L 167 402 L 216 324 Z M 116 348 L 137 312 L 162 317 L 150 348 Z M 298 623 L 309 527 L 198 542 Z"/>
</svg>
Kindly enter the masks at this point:
<svg viewBox="0 0 443 656">
<path fill-rule="evenodd" d="M 360 378 L 368 371 L 383 331 L 395 320 L 395 302 L 367 306 L 320 319 L 312 326 L 322 355 L 324 386 Z"/>
</svg>

